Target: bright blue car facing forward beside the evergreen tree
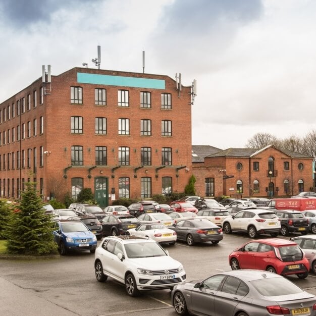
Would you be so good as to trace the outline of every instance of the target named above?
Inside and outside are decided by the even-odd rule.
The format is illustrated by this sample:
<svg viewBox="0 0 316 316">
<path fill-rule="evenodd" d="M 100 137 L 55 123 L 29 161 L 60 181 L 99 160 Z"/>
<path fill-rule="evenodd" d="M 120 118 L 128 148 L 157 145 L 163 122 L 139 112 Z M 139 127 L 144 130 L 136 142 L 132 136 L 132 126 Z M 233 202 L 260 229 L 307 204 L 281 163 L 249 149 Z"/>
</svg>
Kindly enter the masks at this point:
<svg viewBox="0 0 316 316">
<path fill-rule="evenodd" d="M 81 221 L 55 221 L 52 233 L 61 255 L 72 250 L 95 252 L 96 237 Z"/>
</svg>

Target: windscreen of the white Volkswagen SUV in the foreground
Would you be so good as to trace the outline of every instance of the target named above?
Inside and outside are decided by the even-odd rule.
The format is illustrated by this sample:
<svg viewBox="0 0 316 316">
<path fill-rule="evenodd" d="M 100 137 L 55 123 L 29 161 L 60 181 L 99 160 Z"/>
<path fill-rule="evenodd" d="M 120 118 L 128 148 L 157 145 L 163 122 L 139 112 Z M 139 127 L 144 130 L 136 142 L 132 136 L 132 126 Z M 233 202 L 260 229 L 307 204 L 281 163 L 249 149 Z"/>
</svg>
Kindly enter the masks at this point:
<svg viewBox="0 0 316 316">
<path fill-rule="evenodd" d="M 166 256 L 166 252 L 155 242 L 135 242 L 125 244 L 125 251 L 129 258 L 147 258 Z"/>
</svg>

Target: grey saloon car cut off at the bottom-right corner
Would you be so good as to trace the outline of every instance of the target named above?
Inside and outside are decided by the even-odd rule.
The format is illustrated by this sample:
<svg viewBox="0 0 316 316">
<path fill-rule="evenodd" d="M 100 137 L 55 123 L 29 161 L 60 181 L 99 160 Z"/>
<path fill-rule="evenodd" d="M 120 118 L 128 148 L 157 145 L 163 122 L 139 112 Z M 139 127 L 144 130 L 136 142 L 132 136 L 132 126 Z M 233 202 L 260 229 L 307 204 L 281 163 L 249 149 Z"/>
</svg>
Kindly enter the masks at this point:
<svg viewBox="0 0 316 316">
<path fill-rule="evenodd" d="M 176 285 L 172 305 L 179 315 L 314 315 L 316 297 L 286 278 L 258 270 L 220 272 Z"/>
</svg>

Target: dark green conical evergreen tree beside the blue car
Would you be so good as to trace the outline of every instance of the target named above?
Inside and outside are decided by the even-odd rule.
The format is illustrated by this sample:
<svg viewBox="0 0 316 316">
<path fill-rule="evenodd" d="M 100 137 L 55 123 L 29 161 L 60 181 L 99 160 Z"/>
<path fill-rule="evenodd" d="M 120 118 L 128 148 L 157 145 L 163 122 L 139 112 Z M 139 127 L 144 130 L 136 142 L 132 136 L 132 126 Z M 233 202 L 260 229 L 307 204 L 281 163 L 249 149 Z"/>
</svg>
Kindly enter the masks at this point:
<svg viewBox="0 0 316 316">
<path fill-rule="evenodd" d="M 46 215 L 43 202 L 35 189 L 35 183 L 27 182 L 20 211 L 9 224 L 7 243 L 9 253 L 43 255 L 55 253 L 57 244 L 52 234 L 51 216 Z"/>
</svg>

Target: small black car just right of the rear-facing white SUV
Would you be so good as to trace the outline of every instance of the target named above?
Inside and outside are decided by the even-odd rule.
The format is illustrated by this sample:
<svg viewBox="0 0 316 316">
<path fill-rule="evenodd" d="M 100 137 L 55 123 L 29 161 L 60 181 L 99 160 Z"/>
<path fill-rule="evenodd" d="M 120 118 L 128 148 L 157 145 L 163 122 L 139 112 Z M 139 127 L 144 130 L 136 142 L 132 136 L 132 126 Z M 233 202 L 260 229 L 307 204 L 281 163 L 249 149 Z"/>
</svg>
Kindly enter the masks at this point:
<svg viewBox="0 0 316 316">
<path fill-rule="evenodd" d="M 281 220 L 280 234 L 282 236 L 286 236 L 288 233 L 301 233 L 302 235 L 308 234 L 308 218 L 305 217 L 299 210 L 277 209 L 274 213 Z"/>
</svg>

